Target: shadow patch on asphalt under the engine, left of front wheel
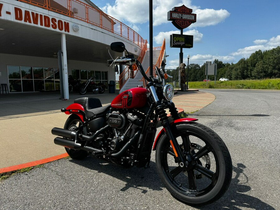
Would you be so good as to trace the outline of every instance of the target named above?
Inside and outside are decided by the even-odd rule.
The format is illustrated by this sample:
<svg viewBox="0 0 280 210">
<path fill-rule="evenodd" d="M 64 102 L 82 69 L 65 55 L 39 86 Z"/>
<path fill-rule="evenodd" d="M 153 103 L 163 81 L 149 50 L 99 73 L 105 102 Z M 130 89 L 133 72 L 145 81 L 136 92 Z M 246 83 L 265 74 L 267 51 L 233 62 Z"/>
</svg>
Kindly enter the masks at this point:
<svg viewBox="0 0 280 210">
<path fill-rule="evenodd" d="M 126 191 L 129 188 L 136 188 L 139 189 L 141 193 L 145 194 L 148 192 L 147 189 L 161 191 L 164 188 L 164 185 L 157 175 L 156 163 L 152 161 L 148 168 L 133 167 L 130 169 L 122 168 L 91 156 L 88 156 L 82 161 L 70 159 L 70 162 L 125 182 L 126 184 L 120 189 L 121 191 Z"/>
</svg>

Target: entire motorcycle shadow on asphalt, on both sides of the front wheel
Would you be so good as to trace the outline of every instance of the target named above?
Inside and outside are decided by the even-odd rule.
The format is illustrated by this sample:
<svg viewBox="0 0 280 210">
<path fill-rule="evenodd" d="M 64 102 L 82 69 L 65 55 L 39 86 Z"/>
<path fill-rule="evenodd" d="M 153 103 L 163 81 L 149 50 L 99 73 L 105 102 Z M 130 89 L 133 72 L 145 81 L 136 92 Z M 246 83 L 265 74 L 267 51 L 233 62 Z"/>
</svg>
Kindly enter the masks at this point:
<svg viewBox="0 0 280 210">
<path fill-rule="evenodd" d="M 126 191 L 129 188 L 135 188 L 145 194 L 148 192 L 147 189 L 161 191 L 165 188 L 157 175 L 156 163 L 153 161 L 150 162 L 150 167 L 148 168 L 133 167 L 131 169 L 125 169 L 90 156 L 83 161 L 71 159 L 70 162 L 86 167 L 90 170 L 95 170 L 97 173 L 104 173 L 124 181 L 126 184 L 120 189 L 121 191 Z M 195 208 L 201 210 L 240 210 L 243 208 L 275 210 L 275 208 L 267 203 L 264 203 L 259 198 L 244 194 L 246 192 L 250 192 L 251 190 L 251 187 L 246 185 L 249 178 L 244 172 L 245 168 L 246 166 L 242 163 L 237 163 L 237 167 L 233 166 L 231 185 L 223 197 L 214 203 L 200 207 L 195 206 Z"/>
</svg>

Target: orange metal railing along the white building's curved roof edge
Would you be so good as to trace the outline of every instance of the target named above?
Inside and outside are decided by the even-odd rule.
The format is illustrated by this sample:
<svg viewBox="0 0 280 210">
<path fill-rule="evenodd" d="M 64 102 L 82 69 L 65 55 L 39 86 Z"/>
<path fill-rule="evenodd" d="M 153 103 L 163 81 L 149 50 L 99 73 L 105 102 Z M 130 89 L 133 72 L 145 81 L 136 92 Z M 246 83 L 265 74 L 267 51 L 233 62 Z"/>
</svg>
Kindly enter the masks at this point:
<svg viewBox="0 0 280 210">
<path fill-rule="evenodd" d="M 79 0 L 18 0 L 44 9 L 63 14 L 94 26 L 108 30 L 135 44 L 144 47 L 145 40 L 134 30 L 105 14 L 104 12 L 87 5 Z M 147 44 L 147 43 L 146 43 Z"/>
</svg>

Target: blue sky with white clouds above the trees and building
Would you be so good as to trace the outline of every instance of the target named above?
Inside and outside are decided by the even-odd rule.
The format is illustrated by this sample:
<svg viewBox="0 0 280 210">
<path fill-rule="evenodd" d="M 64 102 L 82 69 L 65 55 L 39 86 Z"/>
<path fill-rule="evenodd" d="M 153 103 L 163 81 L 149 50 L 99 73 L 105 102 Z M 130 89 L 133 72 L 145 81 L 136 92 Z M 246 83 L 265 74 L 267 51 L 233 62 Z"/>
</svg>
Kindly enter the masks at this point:
<svg viewBox="0 0 280 210">
<path fill-rule="evenodd" d="M 94 1 L 106 14 L 135 30 L 149 43 L 149 1 Z M 183 49 L 183 62 L 202 65 L 218 59 L 236 63 L 256 50 L 268 50 L 280 45 L 280 1 L 275 0 L 153 0 L 153 46 L 166 39 L 166 68 L 179 66 L 180 48 L 170 48 L 170 34 L 180 34 L 167 12 L 185 5 L 197 14 L 197 21 L 183 30 L 194 35 L 194 47 Z"/>
</svg>

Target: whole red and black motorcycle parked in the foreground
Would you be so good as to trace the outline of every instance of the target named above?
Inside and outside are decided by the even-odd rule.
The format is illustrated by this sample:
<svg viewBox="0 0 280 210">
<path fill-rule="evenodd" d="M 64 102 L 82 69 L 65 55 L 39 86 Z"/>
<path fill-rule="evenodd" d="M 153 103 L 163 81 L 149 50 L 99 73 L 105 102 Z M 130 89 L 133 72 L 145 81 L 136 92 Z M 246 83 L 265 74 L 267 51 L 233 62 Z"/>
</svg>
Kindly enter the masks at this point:
<svg viewBox="0 0 280 210">
<path fill-rule="evenodd" d="M 128 53 L 121 42 L 112 43 L 111 49 Z M 173 197 L 191 205 L 219 199 L 231 182 L 229 151 L 217 133 L 197 123 L 198 119 L 180 118 L 172 102 L 173 87 L 165 84 L 164 65 L 156 67 L 158 78 L 149 78 L 129 53 L 107 63 L 133 69 L 136 65 L 146 88 L 124 91 L 106 106 L 96 98 L 76 99 L 61 109 L 71 115 L 64 129 L 52 129 L 52 134 L 63 137 L 56 137 L 54 143 L 65 147 L 73 159 L 92 155 L 125 168 L 148 167 L 151 151 L 156 150 L 158 175 Z M 169 109 L 172 121 L 165 109 Z M 156 136 L 159 122 L 163 128 Z"/>
</svg>

